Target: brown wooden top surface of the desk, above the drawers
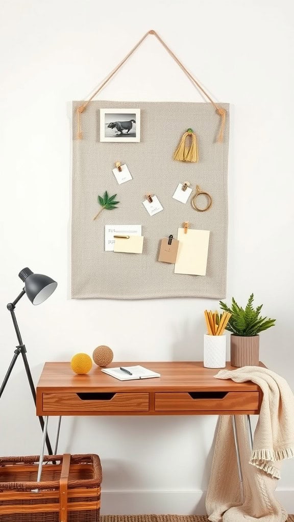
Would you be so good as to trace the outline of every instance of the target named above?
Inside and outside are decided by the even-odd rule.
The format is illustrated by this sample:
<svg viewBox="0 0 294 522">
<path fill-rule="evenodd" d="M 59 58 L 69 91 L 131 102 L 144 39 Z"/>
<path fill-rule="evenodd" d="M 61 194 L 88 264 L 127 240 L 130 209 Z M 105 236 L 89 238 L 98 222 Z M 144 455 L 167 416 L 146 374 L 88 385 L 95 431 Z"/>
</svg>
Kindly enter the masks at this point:
<svg viewBox="0 0 294 522">
<path fill-rule="evenodd" d="M 165 361 L 165 362 L 112 362 L 107 367 L 132 366 L 140 364 L 160 373 L 161 377 L 134 381 L 119 381 L 103 372 L 93 364 L 86 375 L 76 375 L 70 362 L 47 362 L 43 367 L 37 395 L 43 392 L 171 392 L 214 390 L 227 392 L 249 392 L 258 390 L 252 382 L 235 383 L 229 380 L 215 379 L 219 369 L 203 367 L 198 361 Z M 264 366 L 263 363 L 259 365 Z M 227 363 L 227 370 L 236 370 Z"/>
</svg>

